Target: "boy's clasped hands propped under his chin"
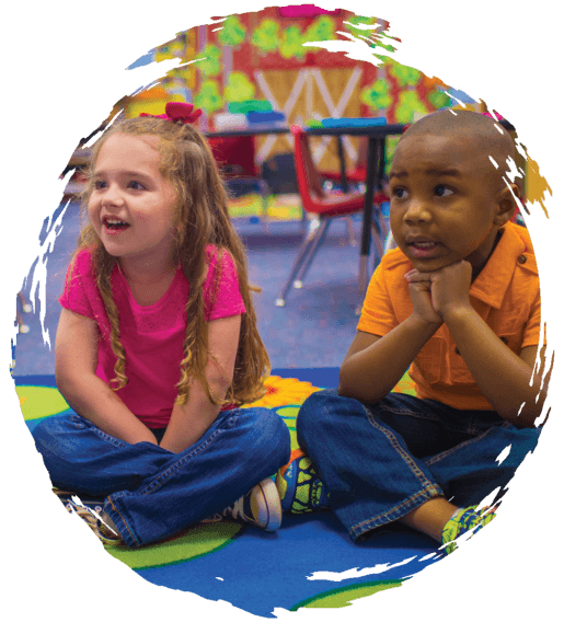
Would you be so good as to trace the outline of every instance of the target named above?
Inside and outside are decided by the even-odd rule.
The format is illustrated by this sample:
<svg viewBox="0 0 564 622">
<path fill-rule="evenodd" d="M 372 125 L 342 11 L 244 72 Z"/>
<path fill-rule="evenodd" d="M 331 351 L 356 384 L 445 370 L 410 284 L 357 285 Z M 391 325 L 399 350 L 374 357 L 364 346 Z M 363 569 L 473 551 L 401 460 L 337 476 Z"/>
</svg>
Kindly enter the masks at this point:
<svg viewBox="0 0 564 622">
<path fill-rule="evenodd" d="M 436 272 L 421 273 L 414 268 L 405 275 L 405 279 L 410 284 L 427 284 L 433 310 L 442 320 L 457 309 L 471 309 L 469 292 L 472 283 L 472 265 L 465 260 Z"/>
</svg>

